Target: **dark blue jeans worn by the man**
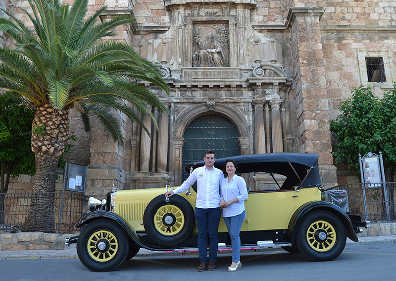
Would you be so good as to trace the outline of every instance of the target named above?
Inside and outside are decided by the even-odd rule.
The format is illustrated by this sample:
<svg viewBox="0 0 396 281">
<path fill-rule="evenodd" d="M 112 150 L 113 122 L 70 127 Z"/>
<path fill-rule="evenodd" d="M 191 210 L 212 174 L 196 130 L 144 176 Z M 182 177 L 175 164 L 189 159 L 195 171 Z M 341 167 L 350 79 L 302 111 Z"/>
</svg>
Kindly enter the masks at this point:
<svg viewBox="0 0 396 281">
<path fill-rule="evenodd" d="M 217 259 L 217 250 L 219 246 L 219 228 L 221 218 L 221 209 L 201 209 L 195 208 L 195 219 L 198 227 L 198 256 L 201 262 L 208 263 L 206 257 L 207 234 L 209 234 L 209 262 L 215 262 Z"/>
</svg>

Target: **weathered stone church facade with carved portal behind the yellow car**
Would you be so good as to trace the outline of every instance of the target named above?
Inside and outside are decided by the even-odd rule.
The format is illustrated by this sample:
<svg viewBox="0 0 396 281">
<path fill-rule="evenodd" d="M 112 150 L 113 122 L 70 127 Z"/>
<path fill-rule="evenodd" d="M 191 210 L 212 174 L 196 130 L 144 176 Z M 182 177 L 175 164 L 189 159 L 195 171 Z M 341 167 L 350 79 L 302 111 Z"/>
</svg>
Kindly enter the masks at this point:
<svg viewBox="0 0 396 281">
<path fill-rule="evenodd" d="M 16 14 L 27 1 L 1 2 Z M 77 137 L 70 162 L 88 165 L 87 194 L 180 185 L 183 164 L 253 153 L 318 153 L 325 187 L 347 183 L 333 164 L 330 120 L 350 89 L 377 95 L 395 81 L 396 1 L 89 0 L 101 20 L 130 14 L 118 30 L 160 69 L 171 92 L 146 83 L 170 114 L 152 109 L 151 138 L 119 116 L 125 144 L 94 120 L 90 134 L 71 115 Z M 1 34 L 2 35 L 2 34 Z M 1 44 L 8 46 L 4 35 Z M 145 83 L 145 82 L 142 82 Z M 357 160 L 356 160 L 357 161 Z M 265 174 L 245 175 L 262 189 Z M 15 185 L 15 183 L 14 183 Z M 16 185 L 15 185 L 16 186 Z"/>
</svg>

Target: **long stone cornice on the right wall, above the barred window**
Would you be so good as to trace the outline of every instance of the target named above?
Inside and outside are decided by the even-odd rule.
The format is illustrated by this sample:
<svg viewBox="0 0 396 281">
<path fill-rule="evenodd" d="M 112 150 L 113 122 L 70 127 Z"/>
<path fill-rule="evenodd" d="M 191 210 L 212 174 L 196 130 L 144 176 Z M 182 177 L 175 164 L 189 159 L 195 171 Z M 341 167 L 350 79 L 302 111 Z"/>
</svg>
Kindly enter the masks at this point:
<svg viewBox="0 0 396 281">
<path fill-rule="evenodd" d="M 396 25 L 320 25 L 320 31 L 323 33 L 340 32 L 340 33 L 395 33 Z"/>
</svg>

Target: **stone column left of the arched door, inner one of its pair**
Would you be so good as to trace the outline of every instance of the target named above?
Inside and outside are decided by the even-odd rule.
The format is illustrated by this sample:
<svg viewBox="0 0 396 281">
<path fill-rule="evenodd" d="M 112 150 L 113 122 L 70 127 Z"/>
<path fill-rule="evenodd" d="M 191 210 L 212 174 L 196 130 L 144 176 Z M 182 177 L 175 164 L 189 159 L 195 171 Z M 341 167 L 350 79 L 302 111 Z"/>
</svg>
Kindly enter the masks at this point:
<svg viewBox="0 0 396 281">
<path fill-rule="evenodd" d="M 166 107 L 169 107 L 169 102 L 162 102 Z M 159 117 L 159 132 L 158 132 L 158 152 L 157 152 L 157 167 L 160 173 L 166 173 L 166 163 L 168 160 L 168 113 L 162 112 Z"/>
</svg>

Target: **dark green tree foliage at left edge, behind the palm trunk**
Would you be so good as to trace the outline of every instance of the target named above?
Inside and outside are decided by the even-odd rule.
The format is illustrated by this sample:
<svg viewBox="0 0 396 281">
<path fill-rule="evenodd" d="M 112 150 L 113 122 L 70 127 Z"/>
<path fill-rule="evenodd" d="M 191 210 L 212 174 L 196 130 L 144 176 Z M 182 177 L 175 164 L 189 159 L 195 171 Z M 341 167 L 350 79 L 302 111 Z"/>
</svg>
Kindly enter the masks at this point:
<svg viewBox="0 0 396 281">
<path fill-rule="evenodd" d="M 3 174 L 33 175 L 36 171 L 30 147 L 34 110 L 10 92 L 0 94 L 0 164 Z M 3 181 L 4 182 L 4 181 Z M 2 186 L 6 191 L 7 186 Z"/>
</svg>

